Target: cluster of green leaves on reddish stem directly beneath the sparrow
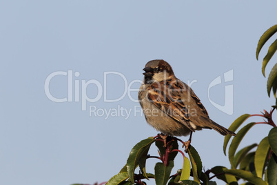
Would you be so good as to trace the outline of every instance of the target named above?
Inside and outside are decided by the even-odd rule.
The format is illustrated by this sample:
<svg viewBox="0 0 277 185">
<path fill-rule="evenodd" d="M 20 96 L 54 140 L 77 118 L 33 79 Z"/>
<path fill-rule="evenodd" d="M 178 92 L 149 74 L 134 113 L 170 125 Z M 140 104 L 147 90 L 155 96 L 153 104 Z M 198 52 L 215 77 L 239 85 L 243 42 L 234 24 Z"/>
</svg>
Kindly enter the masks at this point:
<svg viewBox="0 0 277 185">
<path fill-rule="evenodd" d="M 121 172 L 114 175 L 107 184 L 122 184 L 131 182 L 131 184 L 145 184 L 142 179 L 154 178 L 156 184 L 200 184 L 198 175 L 201 175 L 202 162 L 193 146 L 189 146 L 189 158 L 185 157 L 185 154 L 178 150 L 178 143 L 182 142 L 176 137 L 167 137 L 166 146 L 163 146 L 163 139 L 161 137 L 149 137 L 142 140 L 132 148 L 131 153 L 127 159 L 127 164 L 123 167 Z M 155 142 L 158 148 L 159 156 L 148 155 L 150 146 Z M 183 144 L 184 142 L 182 142 Z M 175 175 L 170 176 L 172 168 L 174 167 L 174 158 L 177 153 L 183 155 L 183 169 L 178 171 Z M 146 156 L 146 157 L 145 157 Z M 145 162 L 148 158 L 157 158 L 161 162 L 157 162 L 154 166 L 154 175 L 148 175 L 145 171 Z M 142 161 L 141 163 L 139 161 Z M 190 164 L 189 164 L 190 161 Z M 192 165 L 192 169 L 191 169 Z M 140 166 L 141 173 L 134 173 L 135 169 Z M 189 180 L 189 176 L 193 174 L 194 181 Z M 127 177 L 126 177 L 127 174 Z M 208 179 L 207 179 L 208 183 Z"/>
</svg>

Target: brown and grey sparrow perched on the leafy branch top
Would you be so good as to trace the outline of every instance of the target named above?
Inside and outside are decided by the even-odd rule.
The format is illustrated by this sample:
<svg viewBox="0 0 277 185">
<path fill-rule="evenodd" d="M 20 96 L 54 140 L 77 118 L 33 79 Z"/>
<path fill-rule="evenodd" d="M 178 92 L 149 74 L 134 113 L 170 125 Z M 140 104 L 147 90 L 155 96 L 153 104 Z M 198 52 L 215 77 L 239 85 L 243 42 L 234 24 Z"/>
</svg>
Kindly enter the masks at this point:
<svg viewBox="0 0 277 185">
<path fill-rule="evenodd" d="M 236 135 L 209 119 L 207 110 L 192 88 L 175 77 L 172 67 L 166 61 L 148 61 L 143 70 L 145 72 L 139 89 L 139 103 L 147 123 L 163 134 L 160 136 L 164 142 L 168 135 L 190 134 L 189 140 L 185 142 L 187 151 L 195 130 L 209 128 L 221 135 Z"/>
</svg>

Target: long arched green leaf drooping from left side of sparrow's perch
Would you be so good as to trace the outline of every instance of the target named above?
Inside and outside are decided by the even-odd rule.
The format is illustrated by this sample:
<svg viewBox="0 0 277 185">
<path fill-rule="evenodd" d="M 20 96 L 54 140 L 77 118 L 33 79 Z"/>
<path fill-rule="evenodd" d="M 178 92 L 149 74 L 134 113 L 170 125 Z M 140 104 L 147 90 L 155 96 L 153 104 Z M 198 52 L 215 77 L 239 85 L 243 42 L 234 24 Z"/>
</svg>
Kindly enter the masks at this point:
<svg viewBox="0 0 277 185">
<path fill-rule="evenodd" d="M 130 181 L 134 184 L 134 170 L 139 164 L 139 160 L 145 153 L 148 152 L 151 144 L 155 141 L 154 137 L 148 137 L 142 140 L 132 148 L 131 153 L 127 159 L 127 172 L 130 177 Z"/>
</svg>

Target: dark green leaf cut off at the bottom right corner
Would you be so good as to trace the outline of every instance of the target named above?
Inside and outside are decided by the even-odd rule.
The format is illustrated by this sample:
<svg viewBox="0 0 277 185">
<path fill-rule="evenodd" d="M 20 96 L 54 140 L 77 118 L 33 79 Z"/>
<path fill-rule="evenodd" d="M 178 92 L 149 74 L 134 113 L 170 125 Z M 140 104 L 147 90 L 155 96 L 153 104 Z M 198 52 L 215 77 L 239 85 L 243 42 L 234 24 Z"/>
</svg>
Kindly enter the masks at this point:
<svg viewBox="0 0 277 185">
<path fill-rule="evenodd" d="M 267 182 L 268 184 L 277 184 L 277 157 L 274 153 L 267 166 Z"/>
</svg>

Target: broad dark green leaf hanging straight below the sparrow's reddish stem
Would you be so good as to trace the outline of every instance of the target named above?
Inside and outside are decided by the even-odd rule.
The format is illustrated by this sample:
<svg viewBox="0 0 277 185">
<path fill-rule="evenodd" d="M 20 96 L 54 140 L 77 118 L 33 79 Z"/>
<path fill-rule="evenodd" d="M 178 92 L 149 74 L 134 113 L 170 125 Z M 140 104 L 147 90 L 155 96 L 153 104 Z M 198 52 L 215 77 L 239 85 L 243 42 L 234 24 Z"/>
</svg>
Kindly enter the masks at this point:
<svg viewBox="0 0 277 185">
<path fill-rule="evenodd" d="M 168 179 L 170 178 L 170 173 L 174 166 L 173 161 L 168 162 L 168 166 L 161 162 L 157 162 L 155 165 L 155 181 L 156 185 L 165 185 L 167 184 Z"/>
</svg>

